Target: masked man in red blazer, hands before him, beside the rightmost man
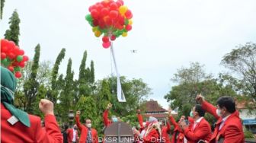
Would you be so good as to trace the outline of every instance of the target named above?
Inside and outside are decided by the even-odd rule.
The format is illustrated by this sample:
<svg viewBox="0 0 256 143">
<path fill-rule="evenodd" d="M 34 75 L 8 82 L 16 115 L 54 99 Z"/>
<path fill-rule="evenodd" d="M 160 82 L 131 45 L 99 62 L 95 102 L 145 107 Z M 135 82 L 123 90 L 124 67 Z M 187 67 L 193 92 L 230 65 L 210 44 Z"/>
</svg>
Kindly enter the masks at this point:
<svg viewBox="0 0 256 143">
<path fill-rule="evenodd" d="M 197 104 L 190 112 L 190 116 L 194 118 L 193 128 L 188 128 L 187 123 L 184 120 L 181 121 L 181 128 L 184 131 L 187 142 L 197 143 L 200 140 L 210 141 L 212 132 L 209 122 L 203 118 L 204 115 L 205 110 L 203 110 L 201 105 Z"/>
</svg>

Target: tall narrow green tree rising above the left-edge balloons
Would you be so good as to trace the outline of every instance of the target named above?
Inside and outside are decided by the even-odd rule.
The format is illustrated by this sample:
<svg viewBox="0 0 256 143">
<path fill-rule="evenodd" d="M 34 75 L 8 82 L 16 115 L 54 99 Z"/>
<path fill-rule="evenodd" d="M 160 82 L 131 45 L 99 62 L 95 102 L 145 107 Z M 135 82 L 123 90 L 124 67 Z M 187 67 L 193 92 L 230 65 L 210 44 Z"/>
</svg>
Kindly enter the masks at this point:
<svg viewBox="0 0 256 143">
<path fill-rule="evenodd" d="M 10 17 L 10 29 L 5 31 L 5 39 L 13 41 L 16 45 L 19 43 L 20 22 L 18 12 L 15 10 Z"/>
</svg>

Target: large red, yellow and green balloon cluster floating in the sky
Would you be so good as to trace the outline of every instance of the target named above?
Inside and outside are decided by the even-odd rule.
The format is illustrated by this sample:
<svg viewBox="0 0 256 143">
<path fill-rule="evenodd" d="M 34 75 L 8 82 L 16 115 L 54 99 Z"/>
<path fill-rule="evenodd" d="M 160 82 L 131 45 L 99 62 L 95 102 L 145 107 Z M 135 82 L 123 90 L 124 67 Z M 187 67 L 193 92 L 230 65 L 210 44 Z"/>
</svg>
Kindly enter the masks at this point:
<svg viewBox="0 0 256 143">
<path fill-rule="evenodd" d="M 132 30 L 132 12 L 123 5 L 123 0 L 104 0 L 91 5 L 90 14 L 85 19 L 92 27 L 95 37 L 102 37 L 102 46 L 110 47 L 110 40 L 114 41 L 122 35 L 127 36 L 127 32 Z"/>
</svg>

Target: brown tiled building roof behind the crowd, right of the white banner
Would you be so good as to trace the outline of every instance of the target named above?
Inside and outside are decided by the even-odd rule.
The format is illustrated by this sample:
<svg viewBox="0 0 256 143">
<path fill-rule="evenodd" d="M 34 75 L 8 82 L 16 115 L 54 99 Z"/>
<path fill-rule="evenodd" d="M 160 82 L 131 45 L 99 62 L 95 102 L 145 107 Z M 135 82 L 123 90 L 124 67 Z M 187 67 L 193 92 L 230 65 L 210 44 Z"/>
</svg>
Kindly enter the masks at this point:
<svg viewBox="0 0 256 143">
<path fill-rule="evenodd" d="M 146 113 L 165 113 L 168 112 L 162 106 L 159 106 L 155 100 L 149 100 L 146 102 Z"/>
</svg>

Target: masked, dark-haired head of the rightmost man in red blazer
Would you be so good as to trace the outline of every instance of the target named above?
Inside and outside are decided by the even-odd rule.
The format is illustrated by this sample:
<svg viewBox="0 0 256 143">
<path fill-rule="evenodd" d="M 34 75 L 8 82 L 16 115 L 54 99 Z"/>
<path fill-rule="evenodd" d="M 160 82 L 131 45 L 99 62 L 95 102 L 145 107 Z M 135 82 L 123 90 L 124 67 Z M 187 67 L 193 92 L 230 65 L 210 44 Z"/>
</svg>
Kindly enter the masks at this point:
<svg viewBox="0 0 256 143">
<path fill-rule="evenodd" d="M 229 116 L 235 112 L 235 100 L 232 97 L 219 97 L 217 100 L 217 110 L 216 113 L 222 118 Z"/>
</svg>

